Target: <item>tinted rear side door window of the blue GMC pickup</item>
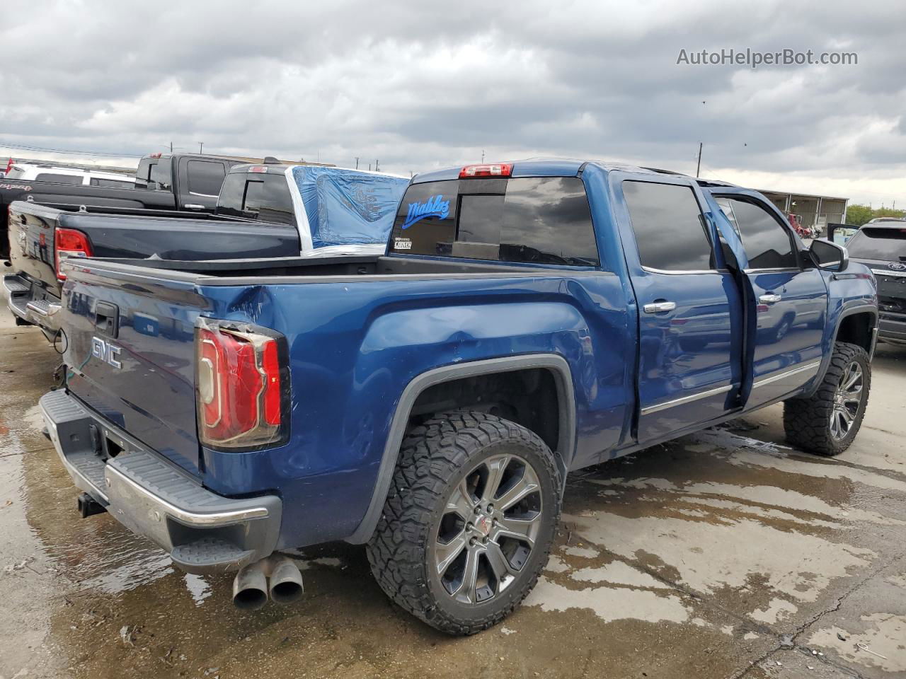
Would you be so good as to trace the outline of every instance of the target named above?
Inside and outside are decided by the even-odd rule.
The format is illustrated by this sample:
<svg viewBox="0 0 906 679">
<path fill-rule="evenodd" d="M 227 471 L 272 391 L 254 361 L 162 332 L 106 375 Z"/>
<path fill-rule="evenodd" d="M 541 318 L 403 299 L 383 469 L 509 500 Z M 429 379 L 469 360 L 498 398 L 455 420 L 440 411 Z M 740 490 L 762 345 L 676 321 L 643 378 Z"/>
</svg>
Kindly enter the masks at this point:
<svg viewBox="0 0 906 679">
<path fill-rule="evenodd" d="M 716 268 L 708 227 L 690 186 L 624 181 L 622 191 L 642 266 L 676 273 Z"/>
</svg>

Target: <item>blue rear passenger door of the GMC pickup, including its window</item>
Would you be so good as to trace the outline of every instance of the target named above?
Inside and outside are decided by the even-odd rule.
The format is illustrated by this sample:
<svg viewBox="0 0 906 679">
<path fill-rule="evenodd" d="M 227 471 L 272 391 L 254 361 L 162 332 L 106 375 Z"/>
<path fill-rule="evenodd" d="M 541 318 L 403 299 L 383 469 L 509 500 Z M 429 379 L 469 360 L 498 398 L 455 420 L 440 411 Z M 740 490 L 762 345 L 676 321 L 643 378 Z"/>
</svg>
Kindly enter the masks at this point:
<svg viewBox="0 0 906 679">
<path fill-rule="evenodd" d="M 737 405 L 743 316 L 736 283 L 712 245 L 716 234 L 702 214 L 698 187 L 681 178 L 623 177 L 612 175 L 640 311 L 638 440 L 644 443 Z"/>
</svg>

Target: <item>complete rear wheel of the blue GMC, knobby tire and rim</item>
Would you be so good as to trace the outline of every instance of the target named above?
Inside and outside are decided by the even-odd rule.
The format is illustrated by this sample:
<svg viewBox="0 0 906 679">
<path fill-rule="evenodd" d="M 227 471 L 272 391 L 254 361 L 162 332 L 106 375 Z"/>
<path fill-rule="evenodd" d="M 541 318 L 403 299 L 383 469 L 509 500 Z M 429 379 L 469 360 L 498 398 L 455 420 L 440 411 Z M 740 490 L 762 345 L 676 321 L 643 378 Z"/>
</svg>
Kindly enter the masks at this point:
<svg viewBox="0 0 906 679">
<path fill-rule="evenodd" d="M 371 572 L 400 607 L 470 635 L 509 615 L 535 587 L 560 518 L 561 476 L 534 432 L 457 411 L 403 441 Z"/>
</svg>

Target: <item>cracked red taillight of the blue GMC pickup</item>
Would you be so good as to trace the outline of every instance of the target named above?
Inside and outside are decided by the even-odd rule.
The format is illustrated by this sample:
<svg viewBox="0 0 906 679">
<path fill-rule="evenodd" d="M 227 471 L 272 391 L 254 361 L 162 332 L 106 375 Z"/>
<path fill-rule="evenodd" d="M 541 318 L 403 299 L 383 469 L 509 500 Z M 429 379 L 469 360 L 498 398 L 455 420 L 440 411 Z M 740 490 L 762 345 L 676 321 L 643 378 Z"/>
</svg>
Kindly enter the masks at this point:
<svg viewBox="0 0 906 679">
<path fill-rule="evenodd" d="M 277 339 L 205 322 L 196 335 L 198 436 L 203 445 L 273 445 L 283 433 Z"/>
</svg>

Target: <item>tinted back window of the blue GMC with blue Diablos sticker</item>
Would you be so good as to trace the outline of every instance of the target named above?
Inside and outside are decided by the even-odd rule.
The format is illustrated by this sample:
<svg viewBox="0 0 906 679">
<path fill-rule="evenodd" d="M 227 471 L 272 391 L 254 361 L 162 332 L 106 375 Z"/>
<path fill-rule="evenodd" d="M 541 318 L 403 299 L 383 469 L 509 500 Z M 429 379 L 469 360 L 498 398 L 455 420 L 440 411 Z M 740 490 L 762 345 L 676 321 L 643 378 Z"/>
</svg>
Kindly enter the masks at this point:
<svg viewBox="0 0 906 679">
<path fill-rule="evenodd" d="M 410 185 L 390 253 L 599 266 L 579 177 L 480 177 Z"/>
</svg>

